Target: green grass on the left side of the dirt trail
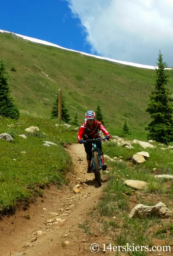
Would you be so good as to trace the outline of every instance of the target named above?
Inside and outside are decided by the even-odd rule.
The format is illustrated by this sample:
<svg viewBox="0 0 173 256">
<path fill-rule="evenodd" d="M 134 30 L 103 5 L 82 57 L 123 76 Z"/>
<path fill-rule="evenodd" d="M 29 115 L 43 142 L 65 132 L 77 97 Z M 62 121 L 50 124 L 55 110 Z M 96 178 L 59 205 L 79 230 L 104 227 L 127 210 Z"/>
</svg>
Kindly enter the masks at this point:
<svg viewBox="0 0 173 256">
<path fill-rule="evenodd" d="M 7 124 L 14 124 L 15 128 Z M 38 126 L 40 132 L 27 134 L 25 128 L 31 125 Z M 71 158 L 62 144 L 76 141 L 73 128 L 55 127 L 55 121 L 42 118 L 1 118 L 0 134 L 3 132 L 11 133 L 14 140 L 0 140 L 0 214 L 12 212 L 20 202 L 27 204 L 31 197 L 42 196 L 41 188 L 51 183 L 60 186 L 66 182 L 65 172 L 71 167 Z M 25 134 L 27 139 L 19 137 L 20 134 Z M 43 140 L 57 146 L 44 147 Z"/>
</svg>

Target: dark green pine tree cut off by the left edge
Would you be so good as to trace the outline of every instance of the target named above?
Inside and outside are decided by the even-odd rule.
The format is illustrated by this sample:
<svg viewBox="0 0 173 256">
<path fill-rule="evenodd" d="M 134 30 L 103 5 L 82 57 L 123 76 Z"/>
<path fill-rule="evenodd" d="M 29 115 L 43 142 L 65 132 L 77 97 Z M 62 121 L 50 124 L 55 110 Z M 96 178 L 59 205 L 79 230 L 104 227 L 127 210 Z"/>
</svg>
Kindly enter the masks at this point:
<svg viewBox="0 0 173 256">
<path fill-rule="evenodd" d="M 19 109 L 14 104 L 14 99 L 10 97 L 11 89 L 9 87 L 10 76 L 5 68 L 5 63 L 0 63 L 0 116 L 19 118 Z"/>
</svg>

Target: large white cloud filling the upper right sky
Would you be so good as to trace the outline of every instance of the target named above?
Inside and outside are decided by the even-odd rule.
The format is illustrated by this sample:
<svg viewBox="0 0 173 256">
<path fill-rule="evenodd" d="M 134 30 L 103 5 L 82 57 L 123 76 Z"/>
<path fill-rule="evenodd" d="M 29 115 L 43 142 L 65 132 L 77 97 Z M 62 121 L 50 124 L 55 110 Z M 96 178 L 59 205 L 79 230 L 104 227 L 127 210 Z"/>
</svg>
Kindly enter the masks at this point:
<svg viewBox="0 0 173 256">
<path fill-rule="evenodd" d="M 173 66 L 173 0 L 66 0 L 98 54 L 155 65 L 159 50 Z"/>
</svg>

